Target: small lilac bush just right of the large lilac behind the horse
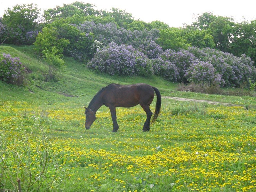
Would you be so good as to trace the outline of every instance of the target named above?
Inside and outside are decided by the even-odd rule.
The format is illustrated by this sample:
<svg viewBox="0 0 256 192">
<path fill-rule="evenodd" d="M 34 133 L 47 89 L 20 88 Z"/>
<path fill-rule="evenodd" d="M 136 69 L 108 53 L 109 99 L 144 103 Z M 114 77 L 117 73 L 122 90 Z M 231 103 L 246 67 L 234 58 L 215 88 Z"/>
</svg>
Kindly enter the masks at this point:
<svg viewBox="0 0 256 192">
<path fill-rule="evenodd" d="M 160 57 L 152 59 L 152 67 L 156 75 L 169 81 L 177 82 L 177 79 L 180 78 L 178 68 L 168 60 L 163 60 Z"/>
</svg>

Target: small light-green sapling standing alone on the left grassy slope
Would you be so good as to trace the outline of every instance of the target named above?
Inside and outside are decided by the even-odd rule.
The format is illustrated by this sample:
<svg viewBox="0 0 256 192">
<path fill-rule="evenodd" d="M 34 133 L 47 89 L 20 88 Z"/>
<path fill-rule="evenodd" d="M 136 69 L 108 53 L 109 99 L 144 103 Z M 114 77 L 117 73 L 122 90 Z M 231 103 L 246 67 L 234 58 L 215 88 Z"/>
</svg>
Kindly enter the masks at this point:
<svg viewBox="0 0 256 192">
<path fill-rule="evenodd" d="M 51 51 L 47 48 L 42 51 L 44 61 L 48 64 L 47 80 L 53 79 L 58 73 L 65 69 L 65 61 L 58 55 L 59 50 L 54 46 Z"/>
</svg>

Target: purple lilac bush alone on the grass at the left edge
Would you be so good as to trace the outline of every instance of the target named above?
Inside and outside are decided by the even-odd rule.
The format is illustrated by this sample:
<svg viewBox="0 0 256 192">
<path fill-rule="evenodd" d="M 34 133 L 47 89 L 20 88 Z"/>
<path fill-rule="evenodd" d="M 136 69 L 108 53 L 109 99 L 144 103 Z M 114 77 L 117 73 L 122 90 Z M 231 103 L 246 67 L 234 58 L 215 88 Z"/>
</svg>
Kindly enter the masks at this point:
<svg viewBox="0 0 256 192">
<path fill-rule="evenodd" d="M 0 57 L 0 79 L 6 83 L 17 84 L 24 68 L 20 58 L 12 58 L 10 54 L 3 53 Z"/>
</svg>

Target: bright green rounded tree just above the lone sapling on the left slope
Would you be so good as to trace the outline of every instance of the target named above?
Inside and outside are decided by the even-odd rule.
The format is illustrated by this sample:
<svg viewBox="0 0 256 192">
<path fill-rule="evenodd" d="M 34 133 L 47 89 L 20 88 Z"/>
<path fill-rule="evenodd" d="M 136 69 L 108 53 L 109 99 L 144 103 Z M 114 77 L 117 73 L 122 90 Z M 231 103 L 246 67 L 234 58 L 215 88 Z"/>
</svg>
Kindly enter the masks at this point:
<svg viewBox="0 0 256 192">
<path fill-rule="evenodd" d="M 69 44 L 68 39 L 59 38 L 58 29 L 55 27 L 44 27 L 42 32 L 38 33 L 36 37 L 35 50 L 41 53 L 43 50 L 51 50 L 53 46 L 56 47 L 58 53 L 62 53 L 64 48 Z"/>
</svg>

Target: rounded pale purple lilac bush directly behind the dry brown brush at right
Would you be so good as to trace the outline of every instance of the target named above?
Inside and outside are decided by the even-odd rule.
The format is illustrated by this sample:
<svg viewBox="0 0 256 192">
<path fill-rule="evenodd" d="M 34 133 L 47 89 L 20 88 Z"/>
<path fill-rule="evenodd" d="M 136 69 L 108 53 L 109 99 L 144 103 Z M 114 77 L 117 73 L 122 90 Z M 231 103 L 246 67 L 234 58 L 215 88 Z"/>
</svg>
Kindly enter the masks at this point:
<svg viewBox="0 0 256 192">
<path fill-rule="evenodd" d="M 186 71 L 185 77 L 190 82 L 194 83 L 209 83 L 213 82 L 220 84 L 221 77 L 215 74 L 216 70 L 211 63 L 195 60 Z"/>
</svg>

